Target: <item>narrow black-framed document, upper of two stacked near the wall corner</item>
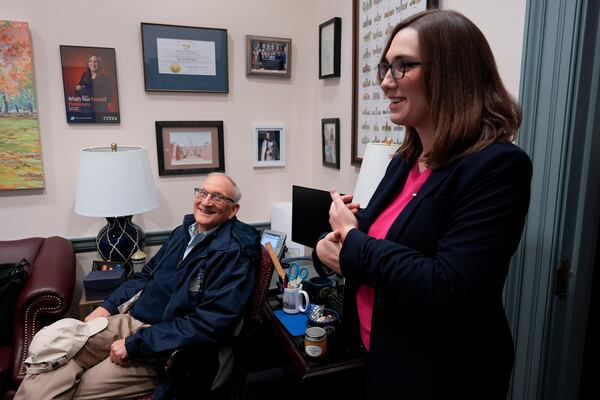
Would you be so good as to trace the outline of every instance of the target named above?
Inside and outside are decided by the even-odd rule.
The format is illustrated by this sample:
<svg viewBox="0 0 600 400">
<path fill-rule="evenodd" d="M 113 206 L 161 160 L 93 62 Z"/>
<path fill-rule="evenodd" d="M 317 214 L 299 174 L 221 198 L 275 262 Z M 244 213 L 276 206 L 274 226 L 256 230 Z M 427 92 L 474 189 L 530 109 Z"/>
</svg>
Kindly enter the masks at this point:
<svg viewBox="0 0 600 400">
<path fill-rule="evenodd" d="M 331 18 L 319 25 L 319 79 L 340 76 L 341 43 L 340 17 Z"/>
</svg>

